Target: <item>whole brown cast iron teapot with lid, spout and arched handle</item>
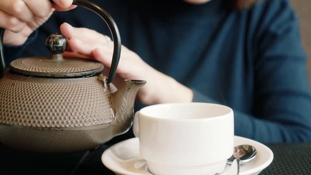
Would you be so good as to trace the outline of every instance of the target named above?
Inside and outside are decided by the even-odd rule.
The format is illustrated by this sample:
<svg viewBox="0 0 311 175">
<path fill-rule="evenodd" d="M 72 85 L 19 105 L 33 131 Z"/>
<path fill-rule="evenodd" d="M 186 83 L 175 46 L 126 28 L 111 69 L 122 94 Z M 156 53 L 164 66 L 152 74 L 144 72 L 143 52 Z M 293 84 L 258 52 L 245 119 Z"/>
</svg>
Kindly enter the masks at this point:
<svg viewBox="0 0 311 175">
<path fill-rule="evenodd" d="M 63 58 L 66 38 L 51 35 L 46 46 L 50 57 L 19 58 L 6 69 L 3 33 L 0 56 L 0 142 L 34 152 L 75 152 L 96 148 L 132 125 L 136 94 L 146 82 L 125 80 L 117 89 L 111 81 L 121 53 L 118 28 L 98 5 L 86 0 L 73 4 L 92 10 L 108 25 L 114 52 L 109 77 L 96 61 Z"/>
</svg>

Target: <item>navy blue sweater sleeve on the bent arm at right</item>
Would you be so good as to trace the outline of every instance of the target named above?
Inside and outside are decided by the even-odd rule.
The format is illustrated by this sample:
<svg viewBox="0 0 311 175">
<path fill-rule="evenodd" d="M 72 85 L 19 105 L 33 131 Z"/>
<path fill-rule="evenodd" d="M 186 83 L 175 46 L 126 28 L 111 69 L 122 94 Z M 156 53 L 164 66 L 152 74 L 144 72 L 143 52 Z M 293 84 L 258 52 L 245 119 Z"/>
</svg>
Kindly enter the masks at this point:
<svg viewBox="0 0 311 175">
<path fill-rule="evenodd" d="M 288 0 L 259 3 L 254 112 L 234 110 L 235 135 L 260 142 L 311 141 L 311 93 L 299 25 Z M 259 9 L 259 10 L 258 10 Z M 219 103 L 193 89 L 193 101 Z"/>
</svg>

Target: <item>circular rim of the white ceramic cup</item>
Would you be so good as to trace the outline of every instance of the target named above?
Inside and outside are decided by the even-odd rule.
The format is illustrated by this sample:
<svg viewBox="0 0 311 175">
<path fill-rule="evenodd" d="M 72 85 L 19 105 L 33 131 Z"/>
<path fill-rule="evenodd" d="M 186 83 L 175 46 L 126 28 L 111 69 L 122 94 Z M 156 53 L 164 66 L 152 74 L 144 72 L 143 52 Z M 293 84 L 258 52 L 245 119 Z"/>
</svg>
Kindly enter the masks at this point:
<svg viewBox="0 0 311 175">
<path fill-rule="evenodd" d="M 144 110 L 147 110 L 149 108 L 153 108 L 156 106 L 167 106 L 167 105 L 186 105 L 186 104 L 191 104 L 191 105 L 212 105 L 212 106 L 220 106 L 228 109 L 229 111 L 223 115 L 219 116 L 214 116 L 214 117 L 207 117 L 207 118 L 192 118 L 192 119 L 176 119 L 176 118 L 159 118 L 159 117 L 154 117 L 154 116 L 149 116 L 146 114 L 143 114 Z M 198 121 L 210 121 L 210 120 L 216 120 L 216 119 L 222 119 L 225 117 L 230 117 L 229 114 L 233 114 L 233 110 L 226 106 L 226 105 L 219 105 L 219 104 L 213 104 L 213 103 L 202 103 L 202 102 L 186 102 L 186 103 L 166 103 L 166 104 L 157 104 L 157 105 L 149 105 L 146 107 L 143 107 L 142 109 L 139 110 L 138 116 L 140 116 L 140 113 L 144 115 L 146 118 L 151 118 L 151 119 L 161 119 L 165 121 L 173 121 L 173 122 L 198 122 Z M 232 115 L 233 116 L 233 115 Z"/>
</svg>

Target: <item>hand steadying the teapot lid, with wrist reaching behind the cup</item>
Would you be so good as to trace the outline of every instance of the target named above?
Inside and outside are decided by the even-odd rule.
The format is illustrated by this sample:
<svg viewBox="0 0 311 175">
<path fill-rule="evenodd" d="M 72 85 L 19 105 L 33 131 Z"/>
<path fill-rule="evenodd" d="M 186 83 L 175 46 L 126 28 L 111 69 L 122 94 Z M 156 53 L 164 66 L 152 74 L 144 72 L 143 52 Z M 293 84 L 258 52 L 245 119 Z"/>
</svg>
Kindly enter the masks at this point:
<svg viewBox="0 0 311 175">
<path fill-rule="evenodd" d="M 60 26 L 62 35 L 68 39 L 69 51 L 66 56 L 93 57 L 105 66 L 107 72 L 111 66 L 113 42 L 108 36 L 86 28 L 74 28 L 68 23 Z M 121 57 L 117 76 L 113 83 L 118 87 L 119 80 L 146 80 L 146 85 L 138 91 L 138 100 L 145 105 L 173 102 L 191 102 L 192 91 L 173 78 L 155 70 L 145 63 L 138 54 L 121 47 Z"/>
</svg>

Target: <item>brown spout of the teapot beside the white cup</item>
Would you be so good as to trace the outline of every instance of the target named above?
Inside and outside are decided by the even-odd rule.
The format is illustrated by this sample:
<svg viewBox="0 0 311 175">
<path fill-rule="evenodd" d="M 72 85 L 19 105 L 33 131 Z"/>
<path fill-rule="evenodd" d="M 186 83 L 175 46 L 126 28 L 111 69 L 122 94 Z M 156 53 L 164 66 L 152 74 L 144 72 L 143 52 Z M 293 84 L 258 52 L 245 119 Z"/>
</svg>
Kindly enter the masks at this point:
<svg viewBox="0 0 311 175">
<path fill-rule="evenodd" d="M 138 90 L 146 84 L 142 80 L 124 80 L 124 84 L 112 95 L 111 103 L 115 109 L 115 134 L 121 135 L 129 130 L 134 116 L 134 103 Z"/>
</svg>

